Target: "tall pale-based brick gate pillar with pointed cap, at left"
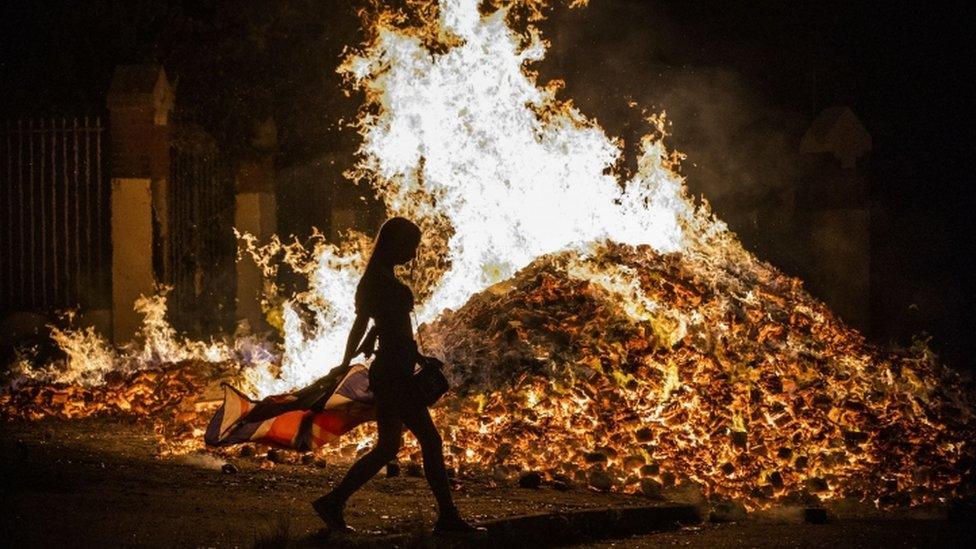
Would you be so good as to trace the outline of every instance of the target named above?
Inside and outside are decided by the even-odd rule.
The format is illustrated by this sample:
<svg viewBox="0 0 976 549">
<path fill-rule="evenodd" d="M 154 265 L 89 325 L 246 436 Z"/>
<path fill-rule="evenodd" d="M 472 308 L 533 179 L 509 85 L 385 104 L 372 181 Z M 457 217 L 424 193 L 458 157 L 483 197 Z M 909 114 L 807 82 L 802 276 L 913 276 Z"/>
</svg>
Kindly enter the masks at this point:
<svg viewBox="0 0 976 549">
<path fill-rule="evenodd" d="M 168 268 L 166 190 L 172 107 L 173 92 L 161 67 L 116 69 L 108 92 L 115 343 L 125 343 L 135 335 L 141 318 L 133 303 L 140 294 L 151 294 L 157 276 L 164 276 Z"/>
</svg>

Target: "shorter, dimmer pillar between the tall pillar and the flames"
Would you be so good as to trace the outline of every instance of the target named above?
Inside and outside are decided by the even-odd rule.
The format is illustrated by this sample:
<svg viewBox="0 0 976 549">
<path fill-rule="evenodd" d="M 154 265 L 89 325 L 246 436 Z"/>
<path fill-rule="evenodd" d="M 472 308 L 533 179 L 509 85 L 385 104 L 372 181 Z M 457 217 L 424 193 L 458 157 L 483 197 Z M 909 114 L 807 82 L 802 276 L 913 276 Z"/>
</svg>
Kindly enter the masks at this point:
<svg viewBox="0 0 976 549">
<path fill-rule="evenodd" d="M 234 227 L 265 242 L 278 230 L 275 198 L 274 156 L 242 162 L 235 177 L 237 185 Z M 265 330 L 268 324 L 261 310 L 264 279 L 254 260 L 247 254 L 237 262 L 237 319 L 246 320 L 254 330 Z"/>
</svg>

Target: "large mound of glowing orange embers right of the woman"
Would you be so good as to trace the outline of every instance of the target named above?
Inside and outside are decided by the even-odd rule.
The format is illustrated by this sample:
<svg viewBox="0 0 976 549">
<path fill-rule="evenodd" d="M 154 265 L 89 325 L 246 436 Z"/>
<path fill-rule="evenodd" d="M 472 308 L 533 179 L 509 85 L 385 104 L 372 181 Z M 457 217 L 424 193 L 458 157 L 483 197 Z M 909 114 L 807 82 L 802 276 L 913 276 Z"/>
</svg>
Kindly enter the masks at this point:
<svg viewBox="0 0 976 549">
<path fill-rule="evenodd" d="M 453 458 L 649 495 L 695 482 L 750 506 L 972 490 L 955 376 L 872 349 L 799 280 L 724 248 L 543 257 L 425 326 L 460 391 Z"/>
</svg>

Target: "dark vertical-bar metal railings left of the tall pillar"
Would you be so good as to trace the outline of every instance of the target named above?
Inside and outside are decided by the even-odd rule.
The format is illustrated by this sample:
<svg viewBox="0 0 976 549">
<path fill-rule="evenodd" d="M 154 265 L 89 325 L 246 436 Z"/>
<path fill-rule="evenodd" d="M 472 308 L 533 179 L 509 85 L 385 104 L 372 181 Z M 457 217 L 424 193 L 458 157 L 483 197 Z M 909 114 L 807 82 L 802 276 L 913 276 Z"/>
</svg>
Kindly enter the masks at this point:
<svg viewBox="0 0 976 549">
<path fill-rule="evenodd" d="M 0 137 L 0 310 L 111 307 L 100 118 L 6 121 Z"/>
</svg>

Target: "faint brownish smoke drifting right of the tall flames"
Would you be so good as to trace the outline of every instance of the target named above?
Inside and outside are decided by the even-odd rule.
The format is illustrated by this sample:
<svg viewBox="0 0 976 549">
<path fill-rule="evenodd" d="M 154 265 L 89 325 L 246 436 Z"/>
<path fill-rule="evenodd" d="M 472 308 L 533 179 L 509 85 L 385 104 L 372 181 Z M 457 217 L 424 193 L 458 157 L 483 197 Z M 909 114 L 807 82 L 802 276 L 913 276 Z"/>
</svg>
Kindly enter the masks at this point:
<svg viewBox="0 0 976 549">
<path fill-rule="evenodd" d="M 557 11 L 543 25 L 552 49 L 546 78 L 625 141 L 633 169 L 647 114 L 664 111 L 681 173 L 744 244 L 783 267 L 793 257 L 794 191 L 804 116 L 777 105 L 762 81 L 760 52 L 735 49 L 654 12 L 644 3 Z M 758 74 L 759 76 L 750 76 Z"/>
</svg>

